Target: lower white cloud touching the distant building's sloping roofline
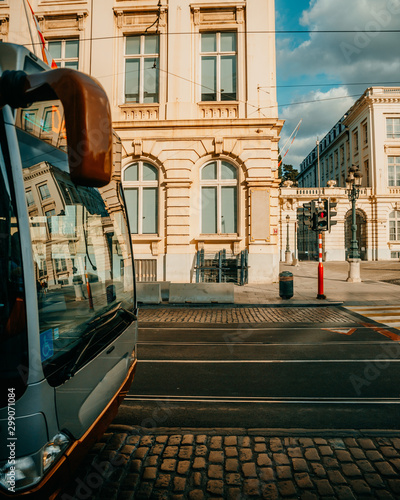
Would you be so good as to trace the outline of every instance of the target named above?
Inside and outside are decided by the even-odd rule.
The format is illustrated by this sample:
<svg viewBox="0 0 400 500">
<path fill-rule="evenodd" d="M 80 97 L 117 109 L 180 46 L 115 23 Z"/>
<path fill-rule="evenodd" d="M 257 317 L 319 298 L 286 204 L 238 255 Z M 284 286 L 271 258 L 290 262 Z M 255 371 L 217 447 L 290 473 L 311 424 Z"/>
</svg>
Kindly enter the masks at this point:
<svg viewBox="0 0 400 500">
<path fill-rule="evenodd" d="M 339 87 L 327 92 L 319 90 L 310 92 L 302 97 L 302 101 L 310 102 L 287 106 L 280 114 L 280 118 L 285 120 L 281 133 L 281 147 L 284 146 L 300 119 L 303 120 L 296 139 L 284 158 L 284 163 L 293 165 L 295 168 L 299 167 L 315 147 L 317 138 L 322 139 L 329 132 L 354 103 L 355 98 L 349 97 L 345 87 Z M 282 152 L 285 153 L 285 151 Z"/>
</svg>

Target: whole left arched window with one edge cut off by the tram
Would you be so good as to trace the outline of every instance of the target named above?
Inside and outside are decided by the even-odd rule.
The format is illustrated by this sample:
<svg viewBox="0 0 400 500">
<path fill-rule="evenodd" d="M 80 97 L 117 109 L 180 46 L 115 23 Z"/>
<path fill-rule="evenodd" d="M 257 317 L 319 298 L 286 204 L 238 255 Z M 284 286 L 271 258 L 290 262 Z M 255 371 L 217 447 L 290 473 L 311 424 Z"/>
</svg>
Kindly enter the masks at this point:
<svg viewBox="0 0 400 500">
<path fill-rule="evenodd" d="M 123 173 L 123 186 L 132 234 L 158 233 L 158 171 L 139 161 Z"/>
</svg>

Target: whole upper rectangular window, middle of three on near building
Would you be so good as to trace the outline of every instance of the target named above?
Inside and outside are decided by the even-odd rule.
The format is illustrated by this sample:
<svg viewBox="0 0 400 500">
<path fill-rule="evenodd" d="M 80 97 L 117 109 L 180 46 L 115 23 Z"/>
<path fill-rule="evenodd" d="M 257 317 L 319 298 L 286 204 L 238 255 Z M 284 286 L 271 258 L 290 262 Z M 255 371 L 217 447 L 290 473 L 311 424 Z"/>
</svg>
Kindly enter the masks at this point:
<svg viewBox="0 0 400 500">
<path fill-rule="evenodd" d="M 159 36 L 125 38 L 125 102 L 159 102 Z"/>
</svg>

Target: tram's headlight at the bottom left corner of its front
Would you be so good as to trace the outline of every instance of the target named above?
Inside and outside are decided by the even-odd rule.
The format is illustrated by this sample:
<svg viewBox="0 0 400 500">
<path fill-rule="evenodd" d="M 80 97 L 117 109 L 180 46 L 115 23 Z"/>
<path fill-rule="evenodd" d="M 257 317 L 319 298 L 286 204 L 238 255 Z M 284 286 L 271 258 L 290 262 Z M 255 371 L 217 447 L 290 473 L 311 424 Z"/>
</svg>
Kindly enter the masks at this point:
<svg viewBox="0 0 400 500">
<path fill-rule="evenodd" d="M 7 491 L 17 492 L 38 483 L 70 444 L 69 438 L 57 434 L 33 455 L 15 458 L 0 464 L 0 484 Z"/>
</svg>

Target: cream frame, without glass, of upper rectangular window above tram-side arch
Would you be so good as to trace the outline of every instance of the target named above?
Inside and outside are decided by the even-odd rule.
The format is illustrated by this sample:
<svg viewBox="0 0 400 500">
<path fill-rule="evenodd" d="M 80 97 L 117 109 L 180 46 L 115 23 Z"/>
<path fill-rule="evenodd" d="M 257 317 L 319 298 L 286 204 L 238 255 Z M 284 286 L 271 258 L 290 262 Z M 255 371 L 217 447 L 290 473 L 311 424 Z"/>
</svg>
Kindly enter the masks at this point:
<svg viewBox="0 0 400 500">
<path fill-rule="evenodd" d="M 156 36 L 158 39 L 157 46 L 158 46 L 158 53 L 152 53 L 152 54 L 146 54 L 145 53 L 145 38 L 146 36 Z M 127 54 L 127 40 L 128 38 L 134 38 L 134 37 L 139 37 L 139 54 Z M 124 104 L 159 104 L 160 103 L 160 54 L 161 54 L 161 37 L 159 33 L 127 33 L 124 35 L 124 87 L 123 87 L 123 102 Z M 156 65 L 156 70 L 157 70 L 157 96 L 156 99 L 152 102 L 146 102 L 145 101 L 145 86 L 144 86 L 144 79 L 145 79 L 145 59 L 154 59 L 157 60 L 157 65 Z M 138 60 L 139 61 L 139 97 L 138 101 L 132 101 L 132 100 L 127 100 L 127 92 L 126 92 L 126 64 L 128 60 Z"/>
</svg>

